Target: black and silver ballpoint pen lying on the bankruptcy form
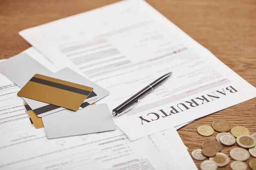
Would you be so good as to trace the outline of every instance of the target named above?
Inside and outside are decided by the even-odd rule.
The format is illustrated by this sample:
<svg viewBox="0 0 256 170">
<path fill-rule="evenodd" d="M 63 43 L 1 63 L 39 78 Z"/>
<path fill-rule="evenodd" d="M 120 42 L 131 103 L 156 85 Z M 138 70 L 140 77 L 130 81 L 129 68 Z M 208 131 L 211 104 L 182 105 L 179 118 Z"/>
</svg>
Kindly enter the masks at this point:
<svg viewBox="0 0 256 170">
<path fill-rule="evenodd" d="M 147 85 L 145 88 L 143 88 L 137 94 L 134 94 L 129 99 L 127 99 L 125 102 L 123 102 L 121 105 L 114 108 L 112 111 L 112 115 L 120 116 L 120 115 L 126 113 L 128 108 L 134 107 L 140 101 L 141 98 L 143 98 L 149 92 L 153 91 L 156 87 L 158 87 L 164 80 L 166 80 L 171 75 L 172 75 L 172 72 L 165 74 L 162 77 L 156 79 L 151 84 Z"/>
</svg>

